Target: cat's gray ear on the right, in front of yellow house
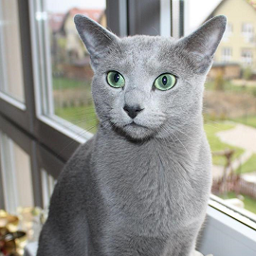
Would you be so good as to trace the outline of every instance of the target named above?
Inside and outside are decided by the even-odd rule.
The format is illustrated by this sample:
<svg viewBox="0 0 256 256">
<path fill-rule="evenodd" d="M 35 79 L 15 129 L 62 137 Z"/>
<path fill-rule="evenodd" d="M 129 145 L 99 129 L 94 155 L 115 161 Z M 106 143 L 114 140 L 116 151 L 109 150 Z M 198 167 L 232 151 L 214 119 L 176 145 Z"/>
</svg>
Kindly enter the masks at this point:
<svg viewBox="0 0 256 256">
<path fill-rule="evenodd" d="M 224 15 L 216 16 L 199 27 L 192 34 L 181 38 L 178 42 L 183 49 L 192 53 L 198 61 L 202 61 L 202 72 L 206 71 L 207 63 L 213 59 L 213 55 L 219 46 L 227 25 L 227 18 Z M 209 63 L 210 64 L 210 63 Z"/>
</svg>

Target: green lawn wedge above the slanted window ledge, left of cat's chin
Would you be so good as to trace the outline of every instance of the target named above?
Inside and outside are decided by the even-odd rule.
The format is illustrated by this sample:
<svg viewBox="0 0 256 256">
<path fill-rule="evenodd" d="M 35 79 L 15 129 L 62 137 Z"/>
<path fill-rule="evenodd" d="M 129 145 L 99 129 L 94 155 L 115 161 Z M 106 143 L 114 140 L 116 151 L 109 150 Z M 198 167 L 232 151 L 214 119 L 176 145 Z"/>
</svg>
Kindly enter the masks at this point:
<svg viewBox="0 0 256 256">
<path fill-rule="evenodd" d="M 93 105 L 57 108 L 55 109 L 55 115 L 70 121 L 73 125 L 78 125 L 92 134 L 97 131 L 99 121 Z M 68 128 L 72 128 L 72 124 Z"/>
</svg>

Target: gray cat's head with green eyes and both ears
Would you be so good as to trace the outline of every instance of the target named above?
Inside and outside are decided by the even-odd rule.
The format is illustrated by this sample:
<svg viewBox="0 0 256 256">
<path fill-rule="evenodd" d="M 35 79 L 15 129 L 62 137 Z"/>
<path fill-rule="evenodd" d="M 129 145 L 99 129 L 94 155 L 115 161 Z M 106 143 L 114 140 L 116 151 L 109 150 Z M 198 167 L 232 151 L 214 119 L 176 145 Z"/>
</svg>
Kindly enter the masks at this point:
<svg viewBox="0 0 256 256">
<path fill-rule="evenodd" d="M 217 16 L 179 40 L 119 38 L 76 15 L 95 73 L 92 93 L 101 124 L 145 139 L 168 137 L 201 117 L 204 82 L 226 23 Z"/>
</svg>

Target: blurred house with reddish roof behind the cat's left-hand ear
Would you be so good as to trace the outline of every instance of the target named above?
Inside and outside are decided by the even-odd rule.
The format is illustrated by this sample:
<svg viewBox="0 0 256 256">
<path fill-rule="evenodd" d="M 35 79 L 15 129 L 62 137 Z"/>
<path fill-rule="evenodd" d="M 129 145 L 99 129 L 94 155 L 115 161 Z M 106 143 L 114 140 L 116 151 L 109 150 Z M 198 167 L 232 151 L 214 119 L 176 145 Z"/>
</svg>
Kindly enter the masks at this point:
<svg viewBox="0 0 256 256">
<path fill-rule="evenodd" d="M 66 13 L 51 13 L 48 27 L 51 38 L 51 62 L 54 75 L 88 79 L 92 77 L 90 57 L 78 35 L 74 16 L 83 14 L 106 27 L 104 9 L 69 9 Z M 82 71 L 81 71 L 82 69 Z M 82 77 L 81 77 L 82 76 Z"/>
</svg>

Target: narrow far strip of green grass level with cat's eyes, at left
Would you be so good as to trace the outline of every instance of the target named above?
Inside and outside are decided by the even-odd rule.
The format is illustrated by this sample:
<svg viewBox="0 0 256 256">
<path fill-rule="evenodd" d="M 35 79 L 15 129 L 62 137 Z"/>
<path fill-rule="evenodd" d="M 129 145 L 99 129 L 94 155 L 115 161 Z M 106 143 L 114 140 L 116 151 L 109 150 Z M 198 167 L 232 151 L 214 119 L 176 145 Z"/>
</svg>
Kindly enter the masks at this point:
<svg viewBox="0 0 256 256">
<path fill-rule="evenodd" d="M 77 81 L 66 78 L 53 78 L 52 80 L 53 90 L 63 90 L 70 88 L 90 88 L 91 82 L 89 81 Z"/>
</svg>

